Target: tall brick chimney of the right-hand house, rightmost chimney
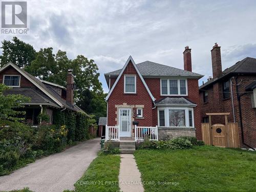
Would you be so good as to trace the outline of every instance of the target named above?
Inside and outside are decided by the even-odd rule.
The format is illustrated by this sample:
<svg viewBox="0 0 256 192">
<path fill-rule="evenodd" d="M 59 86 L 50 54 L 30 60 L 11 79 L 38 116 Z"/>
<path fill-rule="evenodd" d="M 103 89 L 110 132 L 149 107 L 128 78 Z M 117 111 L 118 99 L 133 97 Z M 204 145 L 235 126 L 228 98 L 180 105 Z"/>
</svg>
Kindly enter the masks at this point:
<svg viewBox="0 0 256 192">
<path fill-rule="evenodd" d="M 221 47 L 218 46 L 217 42 L 211 50 L 211 65 L 212 65 L 212 76 L 213 78 L 218 77 L 222 73 L 221 67 Z"/>
</svg>

